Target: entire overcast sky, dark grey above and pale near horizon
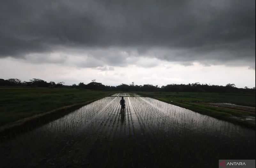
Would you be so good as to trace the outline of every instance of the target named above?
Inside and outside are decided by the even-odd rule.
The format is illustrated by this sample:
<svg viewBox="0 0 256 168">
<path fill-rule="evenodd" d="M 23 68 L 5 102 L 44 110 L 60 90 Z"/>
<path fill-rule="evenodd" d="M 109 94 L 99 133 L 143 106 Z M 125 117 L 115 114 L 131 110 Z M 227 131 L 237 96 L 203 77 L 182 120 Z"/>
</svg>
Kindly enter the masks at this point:
<svg viewBox="0 0 256 168">
<path fill-rule="evenodd" d="M 255 86 L 255 0 L 3 0 L 0 78 Z"/>
</svg>

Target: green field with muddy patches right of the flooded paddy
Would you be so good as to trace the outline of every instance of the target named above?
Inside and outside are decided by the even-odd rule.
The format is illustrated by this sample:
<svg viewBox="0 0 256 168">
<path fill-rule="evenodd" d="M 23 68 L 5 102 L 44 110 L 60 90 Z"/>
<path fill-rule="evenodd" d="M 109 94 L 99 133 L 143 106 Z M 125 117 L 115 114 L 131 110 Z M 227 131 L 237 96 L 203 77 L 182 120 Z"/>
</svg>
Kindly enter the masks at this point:
<svg viewBox="0 0 256 168">
<path fill-rule="evenodd" d="M 205 92 L 137 92 L 137 94 L 255 129 L 255 94 Z"/>
</svg>

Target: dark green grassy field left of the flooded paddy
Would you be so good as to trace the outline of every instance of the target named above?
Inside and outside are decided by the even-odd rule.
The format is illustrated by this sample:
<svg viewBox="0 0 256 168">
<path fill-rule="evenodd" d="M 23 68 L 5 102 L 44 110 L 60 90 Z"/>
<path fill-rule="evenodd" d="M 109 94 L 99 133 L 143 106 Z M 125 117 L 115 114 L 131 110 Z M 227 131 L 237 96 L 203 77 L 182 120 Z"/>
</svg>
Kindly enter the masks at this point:
<svg viewBox="0 0 256 168">
<path fill-rule="evenodd" d="M 68 88 L 0 88 L 0 126 L 114 92 Z"/>
</svg>

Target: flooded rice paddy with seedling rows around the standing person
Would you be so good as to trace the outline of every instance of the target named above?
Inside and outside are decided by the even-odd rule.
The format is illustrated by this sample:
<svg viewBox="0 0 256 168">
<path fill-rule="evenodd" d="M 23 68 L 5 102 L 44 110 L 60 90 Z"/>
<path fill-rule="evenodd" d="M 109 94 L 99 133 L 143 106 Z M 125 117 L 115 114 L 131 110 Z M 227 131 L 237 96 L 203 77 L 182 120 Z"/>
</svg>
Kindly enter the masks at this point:
<svg viewBox="0 0 256 168">
<path fill-rule="evenodd" d="M 255 131 L 119 93 L 1 143 L 0 149 L 1 167 L 218 167 L 218 159 L 255 159 Z"/>
</svg>

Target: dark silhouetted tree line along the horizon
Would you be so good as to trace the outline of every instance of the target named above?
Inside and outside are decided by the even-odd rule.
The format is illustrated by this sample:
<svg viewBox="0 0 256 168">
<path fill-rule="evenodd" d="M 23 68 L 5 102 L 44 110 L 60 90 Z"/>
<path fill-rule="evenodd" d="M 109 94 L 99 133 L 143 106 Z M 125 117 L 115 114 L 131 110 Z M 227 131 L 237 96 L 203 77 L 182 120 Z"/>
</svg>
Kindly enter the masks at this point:
<svg viewBox="0 0 256 168">
<path fill-rule="evenodd" d="M 92 80 L 88 84 L 80 82 L 78 85 L 73 84 L 72 86 L 64 85 L 64 82 L 47 82 L 41 79 L 33 78 L 29 81 L 23 81 L 19 79 L 0 79 L 0 86 L 20 86 L 20 87 L 47 87 L 47 88 L 78 88 L 78 89 L 90 89 L 90 90 L 108 90 L 108 91 L 165 91 L 165 92 L 255 92 L 255 87 L 253 88 L 237 88 L 235 84 L 228 83 L 226 86 L 221 85 L 208 85 L 200 84 L 199 82 L 192 84 L 168 84 L 166 86 L 159 87 L 151 84 L 135 85 L 134 82 L 131 84 L 120 84 L 118 86 L 107 86 L 102 83 Z"/>
</svg>

